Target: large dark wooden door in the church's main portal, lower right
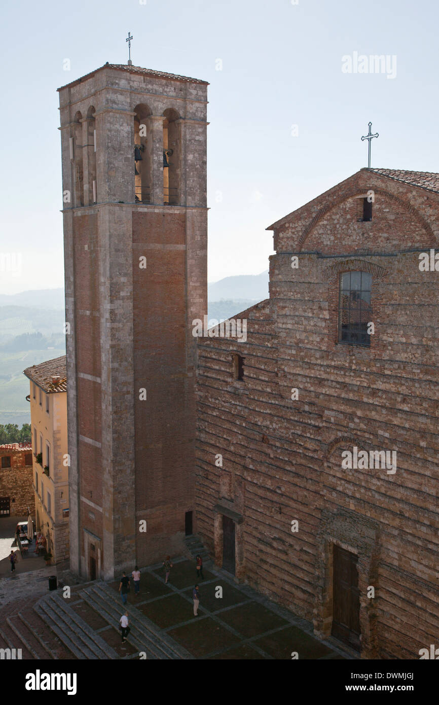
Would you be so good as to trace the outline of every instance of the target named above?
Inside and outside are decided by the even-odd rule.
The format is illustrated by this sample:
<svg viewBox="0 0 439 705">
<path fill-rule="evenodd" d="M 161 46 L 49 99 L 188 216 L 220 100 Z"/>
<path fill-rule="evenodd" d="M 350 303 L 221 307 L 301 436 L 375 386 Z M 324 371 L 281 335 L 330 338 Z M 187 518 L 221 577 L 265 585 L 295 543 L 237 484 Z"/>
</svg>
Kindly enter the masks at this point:
<svg viewBox="0 0 439 705">
<path fill-rule="evenodd" d="M 360 648 L 358 556 L 334 546 L 332 635 L 353 649 Z"/>
</svg>

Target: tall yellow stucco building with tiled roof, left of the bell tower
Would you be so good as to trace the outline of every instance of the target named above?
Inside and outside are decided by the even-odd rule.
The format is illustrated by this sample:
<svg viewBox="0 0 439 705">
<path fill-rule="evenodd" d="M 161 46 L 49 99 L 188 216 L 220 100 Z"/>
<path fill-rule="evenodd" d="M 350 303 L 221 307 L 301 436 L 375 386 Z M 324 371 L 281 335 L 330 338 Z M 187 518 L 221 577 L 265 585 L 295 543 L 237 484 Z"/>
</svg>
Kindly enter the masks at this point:
<svg viewBox="0 0 439 705">
<path fill-rule="evenodd" d="M 69 557 L 66 355 L 24 370 L 30 380 L 35 524 L 51 563 Z"/>
</svg>

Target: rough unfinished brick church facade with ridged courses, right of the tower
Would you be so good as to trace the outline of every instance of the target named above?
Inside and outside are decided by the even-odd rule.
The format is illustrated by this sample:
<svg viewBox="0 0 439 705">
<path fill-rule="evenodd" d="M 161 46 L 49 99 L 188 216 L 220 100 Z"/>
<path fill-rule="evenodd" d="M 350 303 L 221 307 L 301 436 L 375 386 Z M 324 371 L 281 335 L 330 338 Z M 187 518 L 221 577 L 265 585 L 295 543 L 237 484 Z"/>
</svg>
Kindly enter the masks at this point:
<svg viewBox="0 0 439 705">
<path fill-rule="evenodd" d="M 316 635 L 419 658 L 439 634 L 439 174 L 361 169 L 268 229 L 247 340 L 198 341 L 199 534 Z"/>
</svg>

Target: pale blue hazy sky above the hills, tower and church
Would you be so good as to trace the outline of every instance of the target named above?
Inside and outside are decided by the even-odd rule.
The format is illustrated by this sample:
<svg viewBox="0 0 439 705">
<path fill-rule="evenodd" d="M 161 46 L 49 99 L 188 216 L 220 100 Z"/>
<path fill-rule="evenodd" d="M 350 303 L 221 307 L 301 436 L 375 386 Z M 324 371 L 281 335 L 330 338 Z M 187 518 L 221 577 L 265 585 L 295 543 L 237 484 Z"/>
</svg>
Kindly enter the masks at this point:
<svg viewBox="0 0 439 705">
<path fill-rule="evenodd" d="M 0 293 L 63 286 L 56 88 L 126 63 L 128 31 L 135 66 L 210 83 L 218 281 L 268 269 L 266 227 L 367 166 L 369 121 L 371 166 L 439 172 L 438 15 L 431 0 L 3 4 Z"/>
</svg>

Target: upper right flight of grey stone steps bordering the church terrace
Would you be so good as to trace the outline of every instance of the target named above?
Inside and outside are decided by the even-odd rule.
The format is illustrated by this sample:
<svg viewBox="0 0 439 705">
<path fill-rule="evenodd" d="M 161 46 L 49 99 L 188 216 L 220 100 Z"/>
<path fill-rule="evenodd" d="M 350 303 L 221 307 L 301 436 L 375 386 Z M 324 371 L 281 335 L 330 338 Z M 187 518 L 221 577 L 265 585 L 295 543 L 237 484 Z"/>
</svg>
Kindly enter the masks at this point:
<svg viewBox="0 0 439 705">
<path fill-rule="evenodd" d="M 159 634 L 157 627 L 135 606 L 120 603 L 116 592 L 104 582 L 95 582 L 80 593 L 90 607 L 99 612 L 111 626 L 118 629 L 120 615 L 128 610 L 130 615 L 130 634 L 127 641 L 135 649 L 144 651 L 147 658 L 179 659 L 192 658 L 182 647 L 178 646 L 168 635 Z"/>
</svg>

